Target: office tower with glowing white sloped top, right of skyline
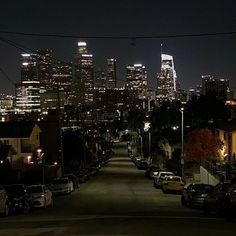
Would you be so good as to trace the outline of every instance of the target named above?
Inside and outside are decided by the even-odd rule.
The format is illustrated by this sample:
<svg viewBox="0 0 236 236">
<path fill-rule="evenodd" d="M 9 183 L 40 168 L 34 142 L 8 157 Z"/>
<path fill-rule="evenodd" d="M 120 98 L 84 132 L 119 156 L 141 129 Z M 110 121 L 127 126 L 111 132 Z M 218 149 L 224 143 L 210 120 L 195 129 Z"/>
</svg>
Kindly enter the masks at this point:
<svg viewBox="0 0 236 236">
<path fill-rule="evenodd" d="M 173 56 L 161 54 L 161 72 L 157 74 L 158 103 L 166 99 L 175 99 L 176 79 Z"/>
</svg>

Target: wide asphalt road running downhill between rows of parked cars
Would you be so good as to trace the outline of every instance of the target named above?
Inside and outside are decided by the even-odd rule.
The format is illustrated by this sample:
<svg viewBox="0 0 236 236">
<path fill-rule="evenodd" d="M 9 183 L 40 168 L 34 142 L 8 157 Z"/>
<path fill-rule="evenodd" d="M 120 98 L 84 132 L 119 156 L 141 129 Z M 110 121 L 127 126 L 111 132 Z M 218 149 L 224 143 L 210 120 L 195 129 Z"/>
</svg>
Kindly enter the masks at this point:
<svg viewBox="0 0 236 236">
<path fill-rule="evenodd" d="M 235 222 L 181 206 L 180 195 L 155 189 L 127 156 L 124 143 L 98 176 L 53 208 L 0 219 L 0 236 L 236 235 Z"/>
</svg>

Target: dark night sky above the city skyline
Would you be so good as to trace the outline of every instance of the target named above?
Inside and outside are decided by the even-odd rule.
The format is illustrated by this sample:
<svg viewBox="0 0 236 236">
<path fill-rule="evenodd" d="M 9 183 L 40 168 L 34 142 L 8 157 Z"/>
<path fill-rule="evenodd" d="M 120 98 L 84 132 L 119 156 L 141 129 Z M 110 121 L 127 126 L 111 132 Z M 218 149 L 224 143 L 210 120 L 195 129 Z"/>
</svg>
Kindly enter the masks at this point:
<svg viewBox="0 0 236 236">
<path fill-rule="evenodd" d="M 3 31 L 78 38 L 22 36 Z M 229 32 L 236 32 L 235 0 L 0 1 L 1 38 L 33 50 L 50 48 L 55 58 L 64 61 L 72 61 L 77 42 L 85 40 L 89 53 L 94 55 L 95 68 L 105 68 L 108 57 L 117 58 L 120 85 L 125 80 L 125 65 L 142 63 L 148 71 L 149 86 L 155 88 L 162 43 L 163 53 L 174 56 L 183 88 L 200 84 L 203 74 L 229 79 L 234 88 L 236 33 Z M 198 34 L 205 36 L 158 38 Z M 108 38 L 98 38 L 104 36 Z M 20 82 L 22 52 L 0 41 L 0 68 L 9 77 L 0 72 L 0 92 L 14 94 L 13 83 Z"/>
</svg>

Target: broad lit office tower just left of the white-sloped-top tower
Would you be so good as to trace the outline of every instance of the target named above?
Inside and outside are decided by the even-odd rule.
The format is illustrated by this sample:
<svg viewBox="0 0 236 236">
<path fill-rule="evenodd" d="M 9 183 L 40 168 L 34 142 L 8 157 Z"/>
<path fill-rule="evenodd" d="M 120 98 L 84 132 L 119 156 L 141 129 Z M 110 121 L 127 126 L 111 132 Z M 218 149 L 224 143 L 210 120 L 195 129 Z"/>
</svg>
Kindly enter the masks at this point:
<svg viewBox="0 0 236 236">
<path fill-rule="evenodd" d="M 133 91 L 138 99 L 147 98 L 147 70 L 142 64 L 127 65 L 126 78 L 128 89 Z"/>
</svg>

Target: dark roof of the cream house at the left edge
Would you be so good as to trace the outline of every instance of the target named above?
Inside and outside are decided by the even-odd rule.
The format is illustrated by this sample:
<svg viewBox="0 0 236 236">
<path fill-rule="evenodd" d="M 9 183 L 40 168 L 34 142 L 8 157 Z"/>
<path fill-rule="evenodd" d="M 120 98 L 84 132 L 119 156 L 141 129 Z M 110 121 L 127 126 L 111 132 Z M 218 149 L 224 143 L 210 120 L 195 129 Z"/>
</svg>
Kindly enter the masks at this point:
<svg viewBox="0 0 236 236">
<path fill-rule="evenodd" d="M 0 138 L 28 138 L 35 122 L 0 122 Z"/>
</svg>

